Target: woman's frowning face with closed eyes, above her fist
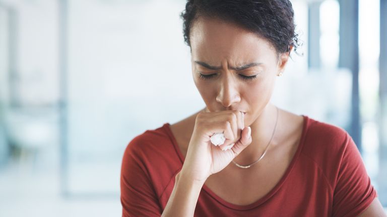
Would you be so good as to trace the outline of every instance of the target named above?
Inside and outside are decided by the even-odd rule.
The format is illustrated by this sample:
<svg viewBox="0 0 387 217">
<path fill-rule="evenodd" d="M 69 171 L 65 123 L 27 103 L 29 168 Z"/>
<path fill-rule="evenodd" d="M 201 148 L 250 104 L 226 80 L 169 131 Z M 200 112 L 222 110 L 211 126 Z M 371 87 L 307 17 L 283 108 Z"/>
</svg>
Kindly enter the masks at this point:
<svg viewBox="0 0 387 217">
<path fill-rule="evenodd" d="M 190 30 L 192 75 L 210 112 L 238 110 L 245 126 L 268 104 L 288 54 L 235 24 L 199 18 Z"/>
</svg>

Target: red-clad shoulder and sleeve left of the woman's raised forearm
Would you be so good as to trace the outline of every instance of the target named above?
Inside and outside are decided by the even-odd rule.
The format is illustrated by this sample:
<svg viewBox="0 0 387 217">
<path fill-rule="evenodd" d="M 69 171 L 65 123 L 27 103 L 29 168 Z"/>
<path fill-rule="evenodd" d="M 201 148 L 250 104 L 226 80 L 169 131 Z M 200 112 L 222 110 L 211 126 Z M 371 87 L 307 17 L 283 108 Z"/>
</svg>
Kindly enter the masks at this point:
<svg viewBox="0 0 387 217">
<path fill-rule="evenodd" d="M 166 124 L 147 130 L 126 146 L 121 164 L 120 187 L 121 203 L 127 213 L 153 216 L 161 210 L 159 198 L 166 186 L 169 186 L 175 166 L 178 165 L 178 161 L 171 155 L 173 148 L 165 127 Z"/>
</svg>

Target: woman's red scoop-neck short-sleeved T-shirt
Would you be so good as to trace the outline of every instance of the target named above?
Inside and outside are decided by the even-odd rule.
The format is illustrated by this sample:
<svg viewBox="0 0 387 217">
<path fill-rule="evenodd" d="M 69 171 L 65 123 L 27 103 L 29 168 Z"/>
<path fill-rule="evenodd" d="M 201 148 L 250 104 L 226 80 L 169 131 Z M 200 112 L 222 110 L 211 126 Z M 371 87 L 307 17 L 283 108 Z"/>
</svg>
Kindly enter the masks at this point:
<svg viewBox="0 0 387 217">
<path fill-rule="evenodd" d="M 229 203 L 203 186 L 195 216 L 357 216 L 377 197 L 361 155 L 342 128 L 304 117 L 300 144 L 277 185 L 249 205 Z M 184 157 L 169 123 L 126 147 L 122 216 L 160 216 Z"/>
</svg>

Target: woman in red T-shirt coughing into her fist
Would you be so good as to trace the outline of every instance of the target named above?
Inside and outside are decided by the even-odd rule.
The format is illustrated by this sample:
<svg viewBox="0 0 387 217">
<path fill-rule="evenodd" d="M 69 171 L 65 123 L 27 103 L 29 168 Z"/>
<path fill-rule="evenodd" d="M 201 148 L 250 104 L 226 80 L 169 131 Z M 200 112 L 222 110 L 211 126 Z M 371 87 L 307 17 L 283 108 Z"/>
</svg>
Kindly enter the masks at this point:
<svg viewBox="0 0 387 217">
<path fill-rule="evenodd" d="M 347 132 L 269 102 L 298 46 L 289 1 L 188 1 L 181 17 L 206 107 L 128 144 L 123 216 L 385 216 Z"/>
</svg>

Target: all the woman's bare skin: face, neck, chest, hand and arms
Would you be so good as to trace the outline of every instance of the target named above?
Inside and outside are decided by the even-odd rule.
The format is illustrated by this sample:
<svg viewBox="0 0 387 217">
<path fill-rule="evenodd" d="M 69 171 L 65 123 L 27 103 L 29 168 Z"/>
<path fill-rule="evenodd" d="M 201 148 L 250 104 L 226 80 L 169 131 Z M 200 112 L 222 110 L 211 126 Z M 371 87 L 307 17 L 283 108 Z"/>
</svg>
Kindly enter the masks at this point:
<svg viewBox="0 0 387 217">
<path fill-rule="evenodd" d="M 191 27 L 190 45 L 193 81 L 206 107 L 171 125 L 185 160 L 163 216 L 192 216 L 203 184 L 233 204 L 247 205 L 260 199 L 283 176 L 302 133 L 303 118 L 279 110 L 276 136 L 266 157 L 247 170 L 230 164 L 235 156 L 235 162 L 251 164 L 270 141 L 277 110 L 269 101 L 289 54 L 278 54 L 268 40 L 237 25 L 203 17 Z M 202 79 L 199 73 L 215 76 Z M 243 79 L 254 75 L 255 79 Z M 239 111 L 246 113 L 244 117 Z M 230 140 L 224 145 L 236 141 L 240 144 L 221 151 L 208 142 L 213 130 L 223 127 L 216 123 L 225 120 L 231 120 L 231 126 L 225 130 Z M 251 137 L 247 135 L 247 126 L 251 128 Z M 375 198 L 361 216 L 385 216 L 382 214 Z"/>
</svg>

